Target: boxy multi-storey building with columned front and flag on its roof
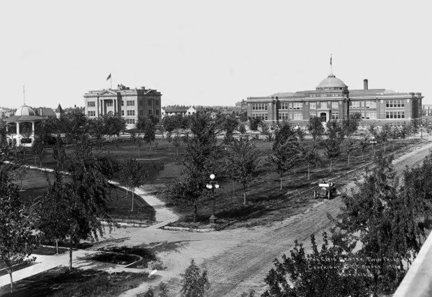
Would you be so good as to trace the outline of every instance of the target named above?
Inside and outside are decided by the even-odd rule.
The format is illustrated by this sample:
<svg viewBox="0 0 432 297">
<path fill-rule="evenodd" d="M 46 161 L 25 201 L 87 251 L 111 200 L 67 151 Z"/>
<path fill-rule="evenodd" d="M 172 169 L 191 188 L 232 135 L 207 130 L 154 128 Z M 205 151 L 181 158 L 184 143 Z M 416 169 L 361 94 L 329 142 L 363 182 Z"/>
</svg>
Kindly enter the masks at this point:
<svg viewBox="0 0 432 297">
<path fill-rule="evenodd" d="M 116 90 L 91 90 L 84 94 L 85 113 L 88 118 L 121 115 L 131 128 L 139 116 L 161 118 L 161 97 L 157 90 L 145 87 L 130 89 L 118 85 Z"/>
</svg>

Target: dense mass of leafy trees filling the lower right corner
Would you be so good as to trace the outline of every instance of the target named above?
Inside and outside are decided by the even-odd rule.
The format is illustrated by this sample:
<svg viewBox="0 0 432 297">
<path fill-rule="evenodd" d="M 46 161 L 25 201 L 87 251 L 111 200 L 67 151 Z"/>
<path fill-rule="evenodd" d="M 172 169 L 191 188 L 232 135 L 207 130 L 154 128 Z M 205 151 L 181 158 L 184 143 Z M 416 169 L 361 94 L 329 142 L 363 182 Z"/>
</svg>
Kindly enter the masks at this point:
<svg viewBox="0 0 432 297">
<path fill-rule="evenodd" d="M 431 228 L 432 154 L 406 169 L 403 184 L 393 157 L 378 156 L 374 168 L 342 196 L 344 207 L 321 249 L 295 241 L 289 255 L 275 259 L 263 296 L 379 296 L 392 294 Z"/>
</svg>

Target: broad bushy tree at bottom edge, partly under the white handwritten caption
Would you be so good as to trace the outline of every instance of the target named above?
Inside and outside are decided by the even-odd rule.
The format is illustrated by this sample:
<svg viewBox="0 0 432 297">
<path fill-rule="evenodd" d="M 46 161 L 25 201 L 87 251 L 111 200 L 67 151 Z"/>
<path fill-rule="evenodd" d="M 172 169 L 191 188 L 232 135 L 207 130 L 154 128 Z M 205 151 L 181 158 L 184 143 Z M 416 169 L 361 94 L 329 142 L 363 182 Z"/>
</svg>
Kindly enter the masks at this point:
<svg viewBox="0 0 432 297">
<path fill-rule="evenodd" d="M 281 262 L 274 260 L 275 268 L 265 278 L 268 289 L 263 297 L 370 296 L 370 279 L 364 276 L 361 266 L 354 270 L 347 261 L 350 255 L 331 246 L 326 233 L 321 250 L 314 235 L 311 246 L 312 252 L 307 254 L 302 243 L 295 240 L 290 256 L 282 255 Z"/>
</svg>

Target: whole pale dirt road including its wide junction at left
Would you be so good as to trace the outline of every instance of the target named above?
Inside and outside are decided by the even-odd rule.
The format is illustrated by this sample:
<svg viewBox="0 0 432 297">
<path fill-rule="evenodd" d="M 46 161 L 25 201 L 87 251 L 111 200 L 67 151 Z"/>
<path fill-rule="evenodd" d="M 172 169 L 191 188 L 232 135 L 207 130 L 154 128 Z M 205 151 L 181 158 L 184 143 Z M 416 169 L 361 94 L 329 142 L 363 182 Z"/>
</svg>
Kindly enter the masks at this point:
<svg viewBox="0 0 432 297">
<path fill-rule="evenodd" d="M 421 163 L 429 154 L 432 143 L 416 147 L 409 154 L 394 161 L 396 170 L 402 172 L 406 166 Z M 348 184 L 347 188 L 353 186 Z M 195 259 L 208 271 L 211 283 L 209 296 L 240 296 L 243 291 L 254 289 L 257 293 L 265 290 L 264 278 L 275 258 L 288 253 L 295 239 L 309 246 L 311 234 L 321 233 L 330 226 L 327 213 L 336 216 L 342 205 L 341 199 L 316 202 L 302 214 L 282 222 L 253 228 L 238 228 L 220 232 L 194 233 L 171 232 L 153 228 L 126 228 L 115 230 L 109 237 L 116 246 L 146 246 L 153 248 L 157 256 L 167 265 L 166 271 L 159 271 L 157 279 L 143 283 L 139 288 L 125 292 L 122 296 L 136 296 L 146 291 L 149 285 L 180 278 L 180 273 Z M 318 241 L 319 242 L 319 241 Z M 171 291 L 176 296 L 178 282 Z"/>
</svg>

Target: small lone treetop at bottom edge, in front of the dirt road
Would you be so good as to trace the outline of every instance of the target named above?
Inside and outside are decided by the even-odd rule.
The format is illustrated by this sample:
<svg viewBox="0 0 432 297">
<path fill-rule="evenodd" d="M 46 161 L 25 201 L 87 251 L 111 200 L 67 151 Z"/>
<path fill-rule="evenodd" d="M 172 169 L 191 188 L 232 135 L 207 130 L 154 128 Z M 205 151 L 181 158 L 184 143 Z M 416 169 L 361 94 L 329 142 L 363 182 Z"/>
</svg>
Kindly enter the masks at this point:
<svg viewBox="0 0 432 297">
<path fill-rule="evenodd" d="M 186 268 L 183 276 L 183 287 L 180 291 L 182 297 L 203 297 L 206 290 L 210 288 L 207 271 L 202 271 L 196 266 L 194 259 L 191 260 L 190 266 Z"/>
</svg>

